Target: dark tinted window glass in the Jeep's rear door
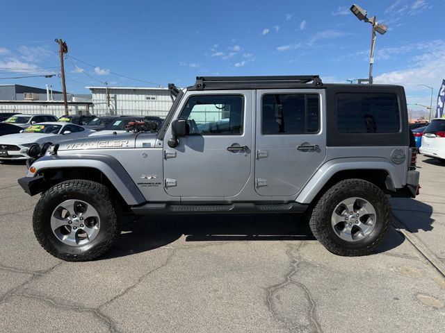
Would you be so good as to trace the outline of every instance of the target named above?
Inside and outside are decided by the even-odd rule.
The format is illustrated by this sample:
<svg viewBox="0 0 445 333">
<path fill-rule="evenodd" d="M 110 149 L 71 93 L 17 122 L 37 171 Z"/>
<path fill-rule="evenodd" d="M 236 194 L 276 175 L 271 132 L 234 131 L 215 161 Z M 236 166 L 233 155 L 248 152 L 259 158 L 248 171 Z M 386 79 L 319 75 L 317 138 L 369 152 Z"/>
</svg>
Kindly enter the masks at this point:
<svg viewBox="0 0 445 333">
<path fill-rule="evenodd" d="M 320 130 L 318 94 L 265 94 L 262 133 L 305 134 Z"/>
</svg>

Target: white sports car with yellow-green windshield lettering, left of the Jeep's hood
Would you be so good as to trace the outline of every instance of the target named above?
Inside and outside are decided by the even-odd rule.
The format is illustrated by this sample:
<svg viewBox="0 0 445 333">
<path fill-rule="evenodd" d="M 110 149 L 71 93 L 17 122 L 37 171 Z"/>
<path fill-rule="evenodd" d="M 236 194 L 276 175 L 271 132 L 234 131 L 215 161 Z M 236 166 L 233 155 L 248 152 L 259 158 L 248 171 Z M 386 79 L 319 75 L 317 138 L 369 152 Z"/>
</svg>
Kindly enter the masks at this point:
<svg viewBox="0 0 445 333">
<path fill-rule="evenodd" d="M 78 137 L 87 137 L 94 130 L 88 130 L 74 123 L 59 121 L 35 123 L 25 128 L 22 133 L 0 137 L 0 160 L 27 160 L 28 149 L 33 144 L 56 144 Z"/>
</svg>

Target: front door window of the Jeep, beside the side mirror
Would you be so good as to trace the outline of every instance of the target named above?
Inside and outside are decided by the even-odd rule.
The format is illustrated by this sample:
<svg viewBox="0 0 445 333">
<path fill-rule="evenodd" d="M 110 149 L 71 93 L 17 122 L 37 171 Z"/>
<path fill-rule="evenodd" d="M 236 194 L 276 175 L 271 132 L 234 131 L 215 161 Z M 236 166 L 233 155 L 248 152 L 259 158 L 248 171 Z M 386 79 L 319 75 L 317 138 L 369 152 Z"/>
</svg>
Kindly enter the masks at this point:
<svg viewBox="0 0 445 333">
<path fill-rule="evenodd" d="M 189 134 L 243 134 L 244 98 L 239 95 L 191 96 L 181 119 L 186 119 Z"/>
</svg>

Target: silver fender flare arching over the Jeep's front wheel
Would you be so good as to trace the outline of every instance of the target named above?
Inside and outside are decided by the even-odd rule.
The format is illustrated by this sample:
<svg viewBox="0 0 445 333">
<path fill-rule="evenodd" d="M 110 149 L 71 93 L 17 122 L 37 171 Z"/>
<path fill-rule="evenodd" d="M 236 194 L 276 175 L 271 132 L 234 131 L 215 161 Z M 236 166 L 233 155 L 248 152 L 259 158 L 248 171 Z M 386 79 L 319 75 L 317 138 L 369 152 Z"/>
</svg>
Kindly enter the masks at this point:
<svg viewBox="0 0 445 333">
<path fill-rule="evenodd" d="M 122 164 L 109 155 L 46 155 L 33 163 L 35 173 L 28 171 L 26 176 L 33 177 L 47 169 L 92 168 L 104 173 L 119 191 L 128 205 L 145 203 L 145 198 Z"/>
</svg>

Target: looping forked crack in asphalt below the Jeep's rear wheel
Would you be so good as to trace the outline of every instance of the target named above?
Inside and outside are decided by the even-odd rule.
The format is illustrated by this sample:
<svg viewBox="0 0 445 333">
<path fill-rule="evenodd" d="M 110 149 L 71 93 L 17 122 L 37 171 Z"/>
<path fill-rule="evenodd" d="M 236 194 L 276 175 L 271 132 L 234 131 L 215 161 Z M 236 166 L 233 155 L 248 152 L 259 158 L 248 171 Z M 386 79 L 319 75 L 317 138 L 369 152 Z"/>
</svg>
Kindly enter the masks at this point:
<svg viewBox="0 0 445 333">
<path fill-rule="evenodd" d="M 302 248 L 303 245 L 304 245 L 303 243 L 298 244 L 296 250 L 300 250 L 300 248 Z M 309 324 L 311 325 L 310 331 L 323 333 L 321 325 L 318 322 L 316 314 L 316 303 L 314 301 L 314 298 L 312 298 L 312 293 L 305 286 L 305 284 L 293 280 L 293 275 L 298 273 L 298 266 L 303 262 L 303 260 L 301 258 L 294 257 L 291 254 L 292 250 L 291 246 L 292 244 L 287 244 L 287 250 L 286 250 L 286 255 L 289 257 L 289 259 L 291 259 L 291 267 L 292 267 L 291 271 L 289 271 L 289 273 L 286 273 L 286 275 L 284 275 L 284 281 L 282 283 L 275 284 L 273 286 L 266 288 L 266 293 L 267 293 L 266 305 L 276 321 L 280 321 L 285 326 L 288 326 L 289 332 L 295 332 L 295 330 L 301 331 L 302 329 L 304 329 L 304 327 L 301 327 L 301 325 L 298 325 L 296 323 L 292 323 L 292 321 L 291 321 L 292 327 L 289 327 L 289 323 L 283 320 L 282 316 L 280 316 L 280 314 L 277 313 L 277 311 L 274 309 L 273 306 L 273 296 L 275 295 L 275 293 L 277 293 L 277 291 L 280 291 L 281 289 L 284 289 L 284 287 L 286 287 L 289 284 L 295 284 L 296 286 L 300 287 L 302 291 L 304 291 L 305 297 L 310 305 L 309 310 L 307 311 L 307 318 L 309 319 Z"/>
</svg>

